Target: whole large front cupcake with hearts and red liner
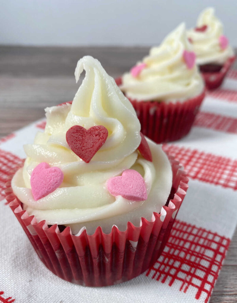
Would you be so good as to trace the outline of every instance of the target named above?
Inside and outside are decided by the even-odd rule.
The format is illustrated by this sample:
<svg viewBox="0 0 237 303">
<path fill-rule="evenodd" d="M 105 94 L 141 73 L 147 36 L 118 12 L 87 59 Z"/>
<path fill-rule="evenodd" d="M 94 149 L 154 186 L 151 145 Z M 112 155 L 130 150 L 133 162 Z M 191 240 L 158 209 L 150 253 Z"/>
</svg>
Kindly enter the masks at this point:
<svg viewBox="0 0 237 303">
<path fill-rule="evenodd" d="M 41 261 L 67 281 L 113 285 L 161 254 L 187 190 L 178 162 L 140 133 L 127 98 L 90 56 L 74 100 L 46 108 L 7 201 Z M 27 248 L 26 248 L 27 249 Z"/>
</svg>

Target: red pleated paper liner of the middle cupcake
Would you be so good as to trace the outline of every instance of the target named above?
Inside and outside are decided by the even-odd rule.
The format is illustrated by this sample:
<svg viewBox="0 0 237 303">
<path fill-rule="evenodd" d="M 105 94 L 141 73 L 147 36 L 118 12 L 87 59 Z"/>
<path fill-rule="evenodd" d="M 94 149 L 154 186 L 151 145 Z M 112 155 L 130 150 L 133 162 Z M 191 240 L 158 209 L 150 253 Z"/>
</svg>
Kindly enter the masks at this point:
<svg viewBox="0 0 237 303">
<path fill-rule="evenodd" d="M 122 78 L 115 79 L 122 84 Z M 187 135 L 194 123 L 205 91 L 184 102 L 136 101 L 132 103 L 141 124 L 141 132 L 156 143 L 178 140 Z"/>
</svg>

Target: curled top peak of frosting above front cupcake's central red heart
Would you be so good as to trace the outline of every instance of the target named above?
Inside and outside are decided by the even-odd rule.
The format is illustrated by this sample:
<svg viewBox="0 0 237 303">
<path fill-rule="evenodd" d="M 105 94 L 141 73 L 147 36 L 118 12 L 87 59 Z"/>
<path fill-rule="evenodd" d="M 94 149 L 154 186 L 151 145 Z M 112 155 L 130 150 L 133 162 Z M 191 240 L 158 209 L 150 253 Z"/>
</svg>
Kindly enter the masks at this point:
<svg viewBox="0 0 237 303">
<path fill-rule="evenodd" d="M 135 110 L 98 60 L 91 56 L 81 58 L 75 70 L 76 81 L 83 70 L 86 75 L 73 99 L 67 128 L 103 125 L 108 129 L 108 138 L 95 155 L 97 160 L 120 159 L 131 154 L 141 142 Z"/>
</svg>

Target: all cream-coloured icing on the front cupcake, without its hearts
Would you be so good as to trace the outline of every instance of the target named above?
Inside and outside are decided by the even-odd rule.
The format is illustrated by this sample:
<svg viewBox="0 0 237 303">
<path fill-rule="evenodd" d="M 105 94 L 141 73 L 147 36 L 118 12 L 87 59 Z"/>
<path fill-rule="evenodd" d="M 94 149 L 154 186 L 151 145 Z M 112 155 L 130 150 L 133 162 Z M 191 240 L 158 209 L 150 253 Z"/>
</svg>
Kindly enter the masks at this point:
<svg viewBox="0 0 237 303">
<path fill-rule="evenodd" d="M 101 64 L 90 56 L 79 60 L 77 81 L 83 69 L 86 75 L 72 105 L 46 108 L 45 131 L 37 133 L 32 145 L 24 146 L 27 158 L 14 175 L 12 188 L 37 221 L 70 226 L 74 234 L 83 226 L 89 233 L 98 225 L 105 232 L 114 224 L 126 229 L 128 221 L 139 224 L 141 216 L 151 219 L 153 211 L 160 212 L 170 193 L 171 167 L 161 147 L 150 140 L 153 162 L 139 154 L 140 123 L 136 113 Z M 88 164 L 67 145 L 66 132 L 73 125 L 86 129 L 104 125 L 108 129 L 106 142 Z M 35 201 L 30 176 L 41 162 L 60 168 L 64 180 L 55 191 Z M 145 180 L 146 201 L 114 197 L 107 190 L 108 178 L 130 168 L 139 171 Z"/>
</svg>

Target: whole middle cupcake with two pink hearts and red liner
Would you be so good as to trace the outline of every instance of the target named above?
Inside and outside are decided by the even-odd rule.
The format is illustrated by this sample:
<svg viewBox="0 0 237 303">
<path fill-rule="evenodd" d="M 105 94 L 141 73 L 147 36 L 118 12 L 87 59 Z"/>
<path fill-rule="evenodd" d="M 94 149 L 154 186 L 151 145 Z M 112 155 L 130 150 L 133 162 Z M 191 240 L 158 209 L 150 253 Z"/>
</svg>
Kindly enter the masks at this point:
<svg viewBox="0 0 237 303">
<path fill-rule="evenodd" d="M 187 135 L 204 98 L 204 83 L 185 24 L 116 83 L 135 108 L 144 135 L 156 143 Z"/>
</svg>

